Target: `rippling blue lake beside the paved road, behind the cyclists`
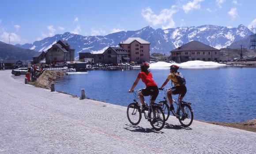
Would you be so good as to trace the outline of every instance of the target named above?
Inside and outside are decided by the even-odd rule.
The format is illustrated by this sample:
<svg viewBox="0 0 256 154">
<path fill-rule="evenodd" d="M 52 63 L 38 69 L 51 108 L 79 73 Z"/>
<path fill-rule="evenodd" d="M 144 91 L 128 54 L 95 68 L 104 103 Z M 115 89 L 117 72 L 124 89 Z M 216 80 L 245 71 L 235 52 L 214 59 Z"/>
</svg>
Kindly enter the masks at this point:
<svg viewBox="0 0 256 154">
<path fill-rule="evenodd" d="M 92 70 L 60 78 L 56 91 L 81 95 L 85 89 L 90 99 L 128 106 L 133 101 L 132 87 L 140 70 Z M 169 68 L 150 69 L 158 87 L 166 80 Z M 218 67 L 214 69 L 180 69 L 186 78 L 184 101 L 192 102 L 194 118 L 205 121 L 240 122 L 256 118 L 256 68 Z M 140 80 L 135 89 L 144 88 Z M 166 85 L 171 87 L 169 82 Z M 163 99 L 160 91 L 156 102 Z M 145 97 L 146 102 L 149 97 Z M 174 97 L 177 99 L 177 97 Z M 72 103 L 72 102 L 71 102 Z"/>
</svg>

